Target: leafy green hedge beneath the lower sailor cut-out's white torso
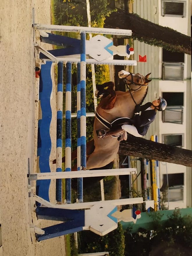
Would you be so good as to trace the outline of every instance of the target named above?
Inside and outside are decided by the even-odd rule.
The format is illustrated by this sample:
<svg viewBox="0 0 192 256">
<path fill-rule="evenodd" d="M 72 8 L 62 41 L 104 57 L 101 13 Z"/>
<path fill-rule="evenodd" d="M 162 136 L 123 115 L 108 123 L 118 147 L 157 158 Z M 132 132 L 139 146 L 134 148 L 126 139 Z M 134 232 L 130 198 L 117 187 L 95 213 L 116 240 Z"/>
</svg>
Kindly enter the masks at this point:
<svg viewBox="0 0 192 256">
<path fill-rule="evenodd" d="M 94 253 L 109 251 L 110 256 L 123 256 L 125 250 L 125 236 L 120 223 L 118 228 L 100 237 L 90 231 L 79 232 L 78 248 L 80 253 Z"/>
</svg>

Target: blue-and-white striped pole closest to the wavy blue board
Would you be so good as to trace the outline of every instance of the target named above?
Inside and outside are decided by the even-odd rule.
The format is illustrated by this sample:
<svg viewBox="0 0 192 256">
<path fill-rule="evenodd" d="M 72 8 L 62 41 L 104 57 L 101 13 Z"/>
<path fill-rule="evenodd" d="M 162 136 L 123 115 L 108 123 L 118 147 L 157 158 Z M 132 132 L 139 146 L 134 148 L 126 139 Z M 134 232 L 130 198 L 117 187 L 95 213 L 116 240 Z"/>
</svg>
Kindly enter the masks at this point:
<svg viewBox="0 0 192 256">
<path fill-rule="evenodd" d="M 62 172 L 63 62 L 58 63 L 57 76 L 57 148 L 56 172 Z M 62 202 L 62 179 L 56 180 L 56 201 Z"/>
</svg>

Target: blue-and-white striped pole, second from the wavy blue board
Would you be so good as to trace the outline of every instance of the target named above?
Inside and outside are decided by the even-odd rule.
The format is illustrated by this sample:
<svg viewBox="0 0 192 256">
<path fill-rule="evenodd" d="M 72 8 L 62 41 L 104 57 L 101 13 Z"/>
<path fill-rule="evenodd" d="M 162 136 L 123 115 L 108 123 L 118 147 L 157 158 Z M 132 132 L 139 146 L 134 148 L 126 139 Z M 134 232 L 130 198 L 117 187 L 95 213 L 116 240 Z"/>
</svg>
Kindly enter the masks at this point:
<svg viewBox="0 0 192 256">
<path fill-rule="evenodd" d="M 66 64 L 66 98 L 65 98 L 65 172 L 71 171 L 71 62 Z M 67 204 L 71 203 L 71 179 L 65 180 Z"/>
</svg>

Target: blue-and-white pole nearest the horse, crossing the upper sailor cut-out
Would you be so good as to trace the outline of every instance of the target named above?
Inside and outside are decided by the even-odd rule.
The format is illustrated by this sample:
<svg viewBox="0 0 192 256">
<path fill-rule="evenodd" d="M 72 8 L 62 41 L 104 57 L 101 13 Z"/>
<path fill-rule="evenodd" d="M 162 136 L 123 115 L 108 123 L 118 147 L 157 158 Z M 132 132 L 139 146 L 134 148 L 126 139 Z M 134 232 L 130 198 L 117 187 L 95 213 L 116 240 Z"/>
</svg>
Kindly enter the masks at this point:
<svg viewBox="0 0 192 256">
<path fill-rule="evenodd" d="M 86 169 L 86 33 L 81 32 L 81 167 Z"/>
</svg>

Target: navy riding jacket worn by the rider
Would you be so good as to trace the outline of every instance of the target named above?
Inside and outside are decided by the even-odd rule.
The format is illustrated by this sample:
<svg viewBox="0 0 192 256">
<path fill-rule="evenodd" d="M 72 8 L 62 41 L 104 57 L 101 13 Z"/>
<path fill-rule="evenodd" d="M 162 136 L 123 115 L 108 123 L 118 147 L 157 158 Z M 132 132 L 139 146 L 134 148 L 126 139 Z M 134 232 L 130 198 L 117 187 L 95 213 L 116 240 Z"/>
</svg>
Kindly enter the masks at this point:
<svg viewBox="0 0 192 256">
<path fill-rule="evenodd" d="M 148 109 L 152 105 L 151 102 L 147 102 L 146 104 L 141 106 L 141 115 L 137 114 L 134 116 L 134 126 L 136 127 L 139 134 L 144 136 L 147 133 L 147 130 L 155 119 L 156 111 L 155 109 Z"/>
</svg>

